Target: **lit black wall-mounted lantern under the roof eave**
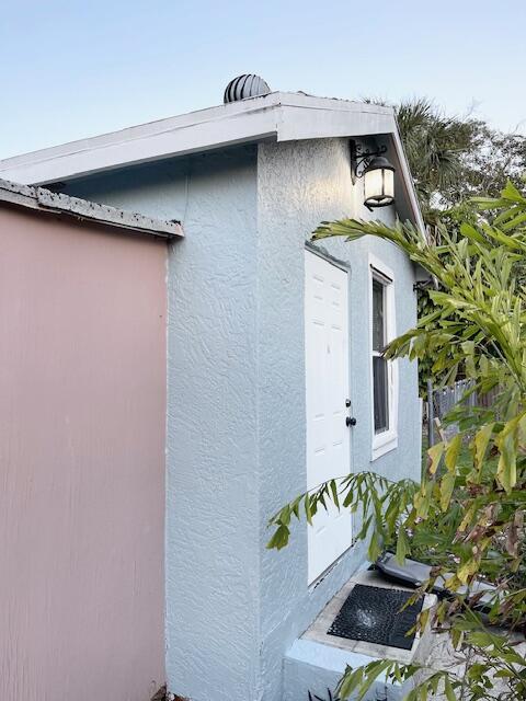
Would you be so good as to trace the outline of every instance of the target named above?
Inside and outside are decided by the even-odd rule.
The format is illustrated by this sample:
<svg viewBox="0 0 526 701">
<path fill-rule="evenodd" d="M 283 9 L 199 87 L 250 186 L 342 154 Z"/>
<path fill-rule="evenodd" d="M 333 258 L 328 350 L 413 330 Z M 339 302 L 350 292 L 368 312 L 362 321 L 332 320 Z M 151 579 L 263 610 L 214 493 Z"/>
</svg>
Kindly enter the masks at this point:
<svg viewBox="0 0 526 701">
<path fill-rule="evenodd" d="M 368 209 L 387 207 L 395 202 L 395 166 L 382 156 L 386 151 L 386 146 L 364 151 L 351 140 L 351 177 L 353 184 L 357 177 L 364 179 L 364 205 Z"/>
</svg>

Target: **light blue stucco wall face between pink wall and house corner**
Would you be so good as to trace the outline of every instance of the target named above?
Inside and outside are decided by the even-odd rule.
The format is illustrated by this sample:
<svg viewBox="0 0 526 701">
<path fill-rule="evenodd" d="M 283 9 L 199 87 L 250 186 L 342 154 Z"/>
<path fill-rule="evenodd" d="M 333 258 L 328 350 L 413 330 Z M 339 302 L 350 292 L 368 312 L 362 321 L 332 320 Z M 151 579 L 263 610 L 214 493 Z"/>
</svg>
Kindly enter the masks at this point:
<svg viewBox="0 0 526 701">
<path fill-rule="evenodd" d="M 259 698 L 256 148 L 71 183 L 184 221 L 169 255 L 167 676 L 196 701 Z"/>
</svg>

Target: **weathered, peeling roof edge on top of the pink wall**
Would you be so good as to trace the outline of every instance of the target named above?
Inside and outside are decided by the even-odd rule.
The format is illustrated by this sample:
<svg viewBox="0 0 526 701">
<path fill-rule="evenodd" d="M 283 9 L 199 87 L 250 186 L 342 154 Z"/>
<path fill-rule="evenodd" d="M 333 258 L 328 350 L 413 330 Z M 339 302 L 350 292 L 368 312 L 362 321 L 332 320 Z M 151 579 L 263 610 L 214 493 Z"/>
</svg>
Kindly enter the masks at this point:
<svg viewBox="0 0 526 701">
<path fill-rule="evenodd" d="M 15 205 L 47 214 L 66 215 L 81 221 L 125 229 L 129 233 L 156 239 L 170 240 L 184 235 L 179 221 L 153 219 L 115 207 L 99 205 L 80 197 L 53 193 L 44 187 L 31 187 L 1 179 L 0 204 Z"/>
</svg>

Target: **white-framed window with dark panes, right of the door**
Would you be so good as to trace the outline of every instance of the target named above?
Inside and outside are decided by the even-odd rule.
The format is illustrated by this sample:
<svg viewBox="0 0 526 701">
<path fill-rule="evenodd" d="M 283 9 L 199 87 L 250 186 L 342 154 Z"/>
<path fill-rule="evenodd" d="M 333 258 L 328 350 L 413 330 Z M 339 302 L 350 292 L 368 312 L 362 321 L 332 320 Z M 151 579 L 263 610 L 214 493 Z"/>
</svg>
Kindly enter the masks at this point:
<svg viewBox="0 0 526 701">
<path fill-rule="evenodd" d="M 392 273 L 369 256 L 373 455 L 375 460 L 398 445 L 397 364 L 382 353 L 395 333 L 395 280 Z"/>
</svg>

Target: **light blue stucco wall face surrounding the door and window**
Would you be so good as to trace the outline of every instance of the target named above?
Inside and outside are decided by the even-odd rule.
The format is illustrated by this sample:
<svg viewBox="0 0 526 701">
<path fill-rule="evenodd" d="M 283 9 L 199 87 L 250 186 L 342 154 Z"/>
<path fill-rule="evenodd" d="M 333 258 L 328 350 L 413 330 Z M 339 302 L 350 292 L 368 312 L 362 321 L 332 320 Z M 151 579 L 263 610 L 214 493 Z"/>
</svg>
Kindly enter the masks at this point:
<svg viewBox="0 0 526 701">
<path fill-rule="evenodd" d="M 265 524 L 279 505 L 306 487 L 304 248 L 322 220 L 371 218 L 362 206 L 362 181 L 353 188 L 348 142 L 324 139 L 266 143 L 258 164 L 259 461 L 261 524 L 262 682 L 265 699 L 278 699 L 284 647 L 302 632 L 323 604 L 363 562 L 355 547 L 316 587 L 307 586 L 307 532 L 298 527 L 289 548 L 264 550 Z M 375 218 L 393 221 L 391 208 Z M 398 449 L 370 462 L 368 253 L 395 274 L 397 331 L 415 322 L 414 273 L 410 261 L 389 243 L 363 239 L 324 241 L 319 249 L 348 271 L 350 398 L 357 425 L 352 429 L 352 468 L 374 469 L 391 479 L 420 469 L 420 402 L 416 367 L 399 364 Z"/>
</svg>

